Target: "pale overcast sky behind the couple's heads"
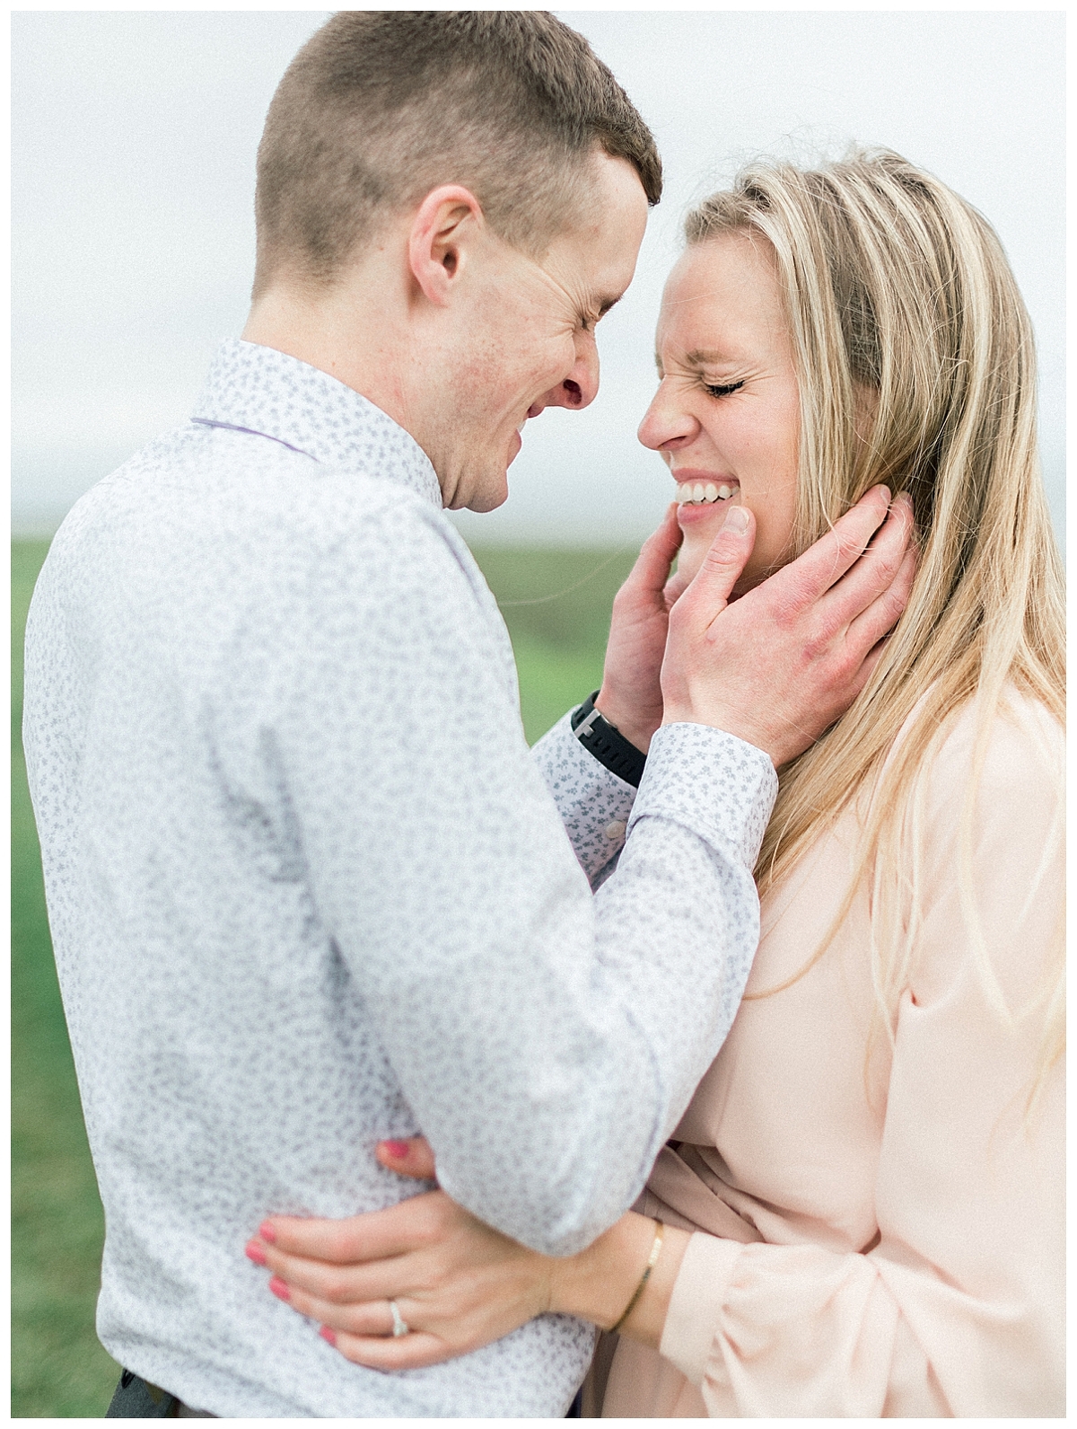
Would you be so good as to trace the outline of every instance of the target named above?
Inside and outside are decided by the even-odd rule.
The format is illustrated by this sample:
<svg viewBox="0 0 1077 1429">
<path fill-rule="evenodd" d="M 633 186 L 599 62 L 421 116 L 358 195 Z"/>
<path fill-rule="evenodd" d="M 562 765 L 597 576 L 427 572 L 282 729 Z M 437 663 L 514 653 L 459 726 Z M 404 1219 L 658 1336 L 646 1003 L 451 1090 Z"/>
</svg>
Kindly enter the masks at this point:
<svg viewBox="0 0 1077 1429">
<path fill-rule="evenodd" d="M 469 539 L 636 540 L 668 499 L 636 442 L 684 209 L 756 154 L 881 143 L 998 229 L 1036 324 L 1044 469 L 1063 512 L 1064 17 L 1060 11 L 558 11 L 656 133 L 666 197 L 598 329 L 584 413 L 529 423 L 507 504 Z M 13 504 L 51 529 L 187 416 L 240 332 L 254 153 L 273 89 L 324 11 L 16 11 Z"/>
</svg>

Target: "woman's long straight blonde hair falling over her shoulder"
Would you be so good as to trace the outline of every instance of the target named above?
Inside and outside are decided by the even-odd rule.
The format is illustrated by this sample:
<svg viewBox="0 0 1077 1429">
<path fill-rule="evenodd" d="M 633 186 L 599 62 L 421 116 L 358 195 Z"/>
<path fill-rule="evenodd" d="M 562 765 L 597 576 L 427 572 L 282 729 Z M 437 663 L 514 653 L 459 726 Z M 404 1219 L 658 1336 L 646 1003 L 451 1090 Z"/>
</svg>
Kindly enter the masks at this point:
<svg viewBox="0 0 1077 1429">
<path fill-rule="evenodd" d="M 908 606 L 867 687 L 781 772 L 760 893 L 868 796 L 834 929 L 867 883 L 877 1003 L 893 1036 L 917 943 L 924 772 L 953 716 L 976 700 L 957 873 L 986 993 L 1010 1020 L 971 896 L 976 787 L 1007 684 L 1058 720 L 1064 709 L 1063 570 L 1038 470 L 1028 313 L 991 226 L 888 150 L 814 170 L 754 164 L 686 221 L 690 244 L 736 230 L 773 246 L 794 342 L 801 439 L 790 557 L 878 482 L 908 492 L 920 539 Z M 1061 979 L 1060 930 L 1037 1087 L 1064 1046 Z"/>
</svg>

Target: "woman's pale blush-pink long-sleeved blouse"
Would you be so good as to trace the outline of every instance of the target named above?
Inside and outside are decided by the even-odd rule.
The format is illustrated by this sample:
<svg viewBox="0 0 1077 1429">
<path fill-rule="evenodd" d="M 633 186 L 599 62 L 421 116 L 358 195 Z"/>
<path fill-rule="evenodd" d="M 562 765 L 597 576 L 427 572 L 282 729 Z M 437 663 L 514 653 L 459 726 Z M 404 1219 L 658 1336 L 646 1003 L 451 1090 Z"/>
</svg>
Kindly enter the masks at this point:
<svg viewBox="0 0 1077 1429">
<path fill-rule="evenodd" d="M 930 776 L 926 916 L 893 1050 L 868 1037 L 861 895 L 808 973 L 741 1005 L 656 1165 L 640 1209 L 703 1233 L 661 1352 L 617 1342 L 603 1416 L 1064 1415 L 1063 1065 L 1028 1112 L 1044 1002 L 1000 1020 L 960 903 L 973 737 L 968 710 Z M 1013 697 L 980 782 L 981 952 L 1018 1012 L 1063 912 L 1061 743 Z M 843 817 L 766 900 L 748 992 L 816 949 L 854 827 Z"/>
</svg>

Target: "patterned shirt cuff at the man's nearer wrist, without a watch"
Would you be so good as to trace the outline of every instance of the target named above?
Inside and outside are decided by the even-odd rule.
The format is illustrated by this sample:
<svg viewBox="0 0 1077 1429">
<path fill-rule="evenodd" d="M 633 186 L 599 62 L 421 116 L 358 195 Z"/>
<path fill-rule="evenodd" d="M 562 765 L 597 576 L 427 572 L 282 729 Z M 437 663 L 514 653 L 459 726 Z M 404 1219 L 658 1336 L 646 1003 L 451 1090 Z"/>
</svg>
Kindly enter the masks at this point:
<svg viewBox="0 0 1077 1429">
<path fill-rule="evenodd" d="M 777 792 L 774 765 L 754 745 L 710 725 L 664 725 L 647 752 L 628 833 L 640 819 L 668 819 L 753 869 Z"/>
</svg>

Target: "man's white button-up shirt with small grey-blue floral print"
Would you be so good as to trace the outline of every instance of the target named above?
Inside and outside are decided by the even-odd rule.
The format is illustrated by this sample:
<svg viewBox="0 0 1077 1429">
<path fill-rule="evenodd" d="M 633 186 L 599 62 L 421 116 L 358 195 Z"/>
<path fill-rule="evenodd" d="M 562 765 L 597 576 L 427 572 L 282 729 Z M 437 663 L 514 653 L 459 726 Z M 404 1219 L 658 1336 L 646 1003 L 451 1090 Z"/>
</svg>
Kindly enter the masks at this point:
<svg viewBox="0 0 1077 1429">
<path fill-rule="evenodd" d="M 636 795 L 567 720 L 529 753 L 424 453 L 243 342 L 57 533 L 26 750 L 109 1352 L 224 1416 L 563 1413 L 588 1326 L 377 1373 L 243 1248 L 267 1212 L 411 1195 L 373 1149 L 420 1129 L 509 1235 L 608 1226 L 733 1020 L 770 760 L 671 726 Z"/>
</svg>

